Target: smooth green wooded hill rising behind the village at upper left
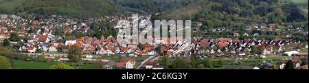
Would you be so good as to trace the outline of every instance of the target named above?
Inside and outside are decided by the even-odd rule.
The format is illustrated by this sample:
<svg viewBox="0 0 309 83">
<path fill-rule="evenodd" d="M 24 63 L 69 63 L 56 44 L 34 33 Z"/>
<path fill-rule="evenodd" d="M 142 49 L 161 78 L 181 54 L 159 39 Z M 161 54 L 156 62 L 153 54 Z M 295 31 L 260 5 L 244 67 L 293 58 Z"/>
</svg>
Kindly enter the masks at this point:
<svg viewBox="0 0 309 83">
<path fill-rule="evenodd" d="M 0 13 L 113 16 L 125 10 L 111 0 L 0 0 Z"/>
</svg>

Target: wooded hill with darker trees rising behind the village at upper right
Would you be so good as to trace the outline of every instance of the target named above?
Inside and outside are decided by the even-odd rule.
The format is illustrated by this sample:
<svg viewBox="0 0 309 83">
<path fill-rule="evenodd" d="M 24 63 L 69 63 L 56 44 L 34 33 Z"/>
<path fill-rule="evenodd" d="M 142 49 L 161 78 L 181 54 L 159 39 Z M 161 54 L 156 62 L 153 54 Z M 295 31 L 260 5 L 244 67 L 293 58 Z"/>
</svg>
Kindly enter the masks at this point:
<svg viewBox="0 0 309 83">
<path fill-rule="evenodd" d="M 305 0 L 308 2 L 308 0 Z M 280 0 L 198 0 L 184 8 L 166 12 L 160 19 L 193 19 L 207 27 L 228 27 L 236 22 L 308 22 L 308 3 Z M 302 6 L 300 9 L 299 6 Z"/>
</svg>

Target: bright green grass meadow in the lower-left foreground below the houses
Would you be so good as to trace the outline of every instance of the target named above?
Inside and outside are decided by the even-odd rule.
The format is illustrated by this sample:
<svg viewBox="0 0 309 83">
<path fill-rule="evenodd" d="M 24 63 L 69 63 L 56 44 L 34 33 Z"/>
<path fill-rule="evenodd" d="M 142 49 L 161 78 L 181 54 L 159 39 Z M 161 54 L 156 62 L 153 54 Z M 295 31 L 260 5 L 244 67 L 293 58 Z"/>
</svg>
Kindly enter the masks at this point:
<svg viewBox="0 0 309 83">
<path fill-rule="evenodd" d="M 35 61 L 23 61 L 23 60 L 12 60 L 13 69 L 49 69 L 49 66 L 57 64 L 59 62 L 35 62 Z M 65 62 L 72 67 L 76 67 L 77 63 Z M 83 64 L 82 69 L 93 69 L 93 64 Z"/>
</svg>

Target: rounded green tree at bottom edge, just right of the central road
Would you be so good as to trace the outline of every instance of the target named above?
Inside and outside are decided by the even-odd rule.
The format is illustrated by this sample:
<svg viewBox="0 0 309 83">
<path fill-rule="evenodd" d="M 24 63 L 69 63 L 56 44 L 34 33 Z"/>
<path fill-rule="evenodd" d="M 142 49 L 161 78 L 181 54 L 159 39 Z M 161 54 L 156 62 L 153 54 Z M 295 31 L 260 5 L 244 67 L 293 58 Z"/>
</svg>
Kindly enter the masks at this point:
<svg viewBox="0 0 309 83">
<path fill-rule="evenodd" d="M 183 60 L 183 58 L 176 58 L 172 64 L 173 69 L 191 69 L 192 66 L 190 62 L 187 60 Z"/>
</svg>

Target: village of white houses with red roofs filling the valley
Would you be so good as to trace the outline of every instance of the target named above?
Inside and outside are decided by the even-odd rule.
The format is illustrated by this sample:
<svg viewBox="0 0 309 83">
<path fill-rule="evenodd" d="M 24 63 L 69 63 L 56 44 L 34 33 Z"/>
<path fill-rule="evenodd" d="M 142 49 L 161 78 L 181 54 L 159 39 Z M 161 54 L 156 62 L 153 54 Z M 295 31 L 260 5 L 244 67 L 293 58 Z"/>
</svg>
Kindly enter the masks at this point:
<svg viewBox="0 0 309 83">
<path fill-rule="evenodd" d="M 139 16 L 139 20 L 150 20 L 151 15 Z M 66 62 L 67 52 L 73 45 L 78 45 L 82 49 L 82 60 L 95 61 L 102 60 L 106 62 L 102 69 L 166 69 L 165 64 L 161 64 L 161 57 L 189 59 L 194 57 L 204 60 L 206 58 L 215 58 L 223 60 L 254 60 L 263 58 L 275 58 L 282 61 L 279 69 L 284 69 L 285 62 L 293 60 L 295 69 L 308 69 L 308 41 L 295 40 L 290 38 L 293 34 L 287 34 L 285 37 L 275 37 L 271 40 L 259 38 L 240 39 L 237 36 L 260 36 L 259 32 L 249 34 L 239 34 L 233 32 L 227 27 L 218 27 L 211 29 L 212 32 L 233 32 L 233 37 L 209 38 L 203 36 L 193 36 L 191 39 L 190 51 L 179 49 L 187 44 L 183 40 L 176 43 L 155 38 L 164 44 L 146 43 L 119 45 L 115 36 L 67 36 L 73 32 L 93 33 L 91 24 L 100 21 L 109 21 L 113 23 L 113 30 L 117 30 L 117 22 L 121 19 L 132 21 L 130 16 L 119 17 L 100 17 L 87 19 L 70 19 L 65 16 L 36 16 L 34 20 L 23 19 L 16 15 L 1 15 L 0 20 L 0 40 L 1 43 L 10 41 L 9 45 L 20 55 L 39 56 L 44 55 L 48 61 Z M 196 22 L 192 28 L 193 34 L 198 31 L 198 27 L 203 23 Z M 271 31 L 280 31 L 282 29 L 274 28 L 276 25 L 271 23 L 263 25 L 247 25 L 246 29 L 267 29 Z M 59 33 L 58 27 L 62 28 Z M 301 29 L 289 24 L 286 27 L 301 35 L 308 37 L 308 27 Z M 100 29 L 101 31 L 101 29 Z M 303 32 L 304 31 L 304 32 Z M 209 34 L 209 33 L 204 33 Z M 308 40 L 308 38 L 307 38 Z M 307 60 L 301 58 L 307 57 Z M 117 58 L 113 60 L 113 58 Z M 278 61 L 278 63 L 279 63 Z M 265 63 L 263 65 L 263 63 Z M 263 61 L 260 66 L 225 66 L 222 69 L 275 69 L 271 68 L 273 64 Z M 265 66 L 266 65 L 266 66 Z M 306 66 L 306 67 L 304 67 Z M 168 68 L 169 69 L 169 68 Z"/>
</svg>

